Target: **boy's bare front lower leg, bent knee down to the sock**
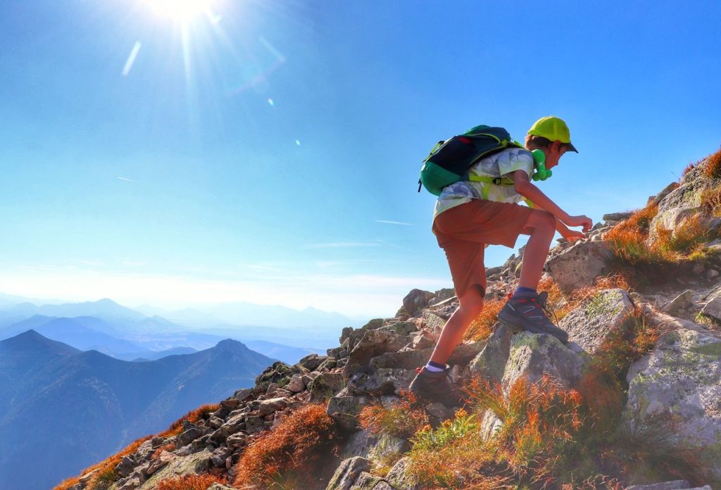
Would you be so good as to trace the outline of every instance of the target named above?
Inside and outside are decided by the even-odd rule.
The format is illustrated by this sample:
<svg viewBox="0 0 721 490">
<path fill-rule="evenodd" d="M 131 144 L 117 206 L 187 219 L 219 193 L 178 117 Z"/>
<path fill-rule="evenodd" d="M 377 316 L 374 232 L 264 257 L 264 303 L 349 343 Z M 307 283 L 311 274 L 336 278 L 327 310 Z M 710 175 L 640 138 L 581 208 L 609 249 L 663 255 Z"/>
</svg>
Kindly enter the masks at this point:
<svg viewBox="0 0 721 490">
<path fill-rule="evenodd" d="M 556 234 L 556 218 L 551 213 L 534 210 L 526 221 L 523 233 L 531 235 L 523 252 L 523 265 L 518 285 L 522 288 L 536 289 L 543 274 L 543 266 Z"/>
</svg>

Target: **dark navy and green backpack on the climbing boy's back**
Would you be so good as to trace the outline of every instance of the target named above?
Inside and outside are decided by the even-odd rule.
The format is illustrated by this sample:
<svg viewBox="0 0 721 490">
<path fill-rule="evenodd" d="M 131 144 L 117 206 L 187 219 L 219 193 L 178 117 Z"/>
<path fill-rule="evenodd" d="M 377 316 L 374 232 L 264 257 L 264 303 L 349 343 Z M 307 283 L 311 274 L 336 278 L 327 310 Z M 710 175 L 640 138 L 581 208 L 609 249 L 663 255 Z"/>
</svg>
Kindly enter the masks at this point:
<svg viewBox="0 0 721 490">
<path fill-rule="evenodd" d="M 423 186 L 431 194 L 440 195 L 443 187 L 460 180 L 469 180 L 468 170 L 477 161 L 509 146 L 523 148 L 521 143 L 510 138 L 504 128 L 486 125 L 476 126 L 446 141 L 438 141 L 430 155 L 423 160 L 418 192 Z M 499 182 L 495 182 L 496 180 Z M 488 178 L 488 181 L 494 184 L 513 184 L 513 181 L 506 183 L 502 180 Z"/>
</svg>

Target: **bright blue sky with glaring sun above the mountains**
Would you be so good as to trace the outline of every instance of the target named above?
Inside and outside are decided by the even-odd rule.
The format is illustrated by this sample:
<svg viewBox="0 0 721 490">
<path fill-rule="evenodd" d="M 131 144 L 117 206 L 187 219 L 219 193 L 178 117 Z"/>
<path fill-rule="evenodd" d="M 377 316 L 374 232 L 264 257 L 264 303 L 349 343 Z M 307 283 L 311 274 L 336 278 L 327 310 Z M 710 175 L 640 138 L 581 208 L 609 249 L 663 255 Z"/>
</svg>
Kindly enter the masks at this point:
<svg viewBox="0 0 721 490">
<path fill-rule="evenodd" d="M 563 117 L 595 221 L 721 144 L 718 2 L 162 4 L 0 5 L 1 292 L 391 316 L 451 286 L 438 139 Z"/>
</svg>

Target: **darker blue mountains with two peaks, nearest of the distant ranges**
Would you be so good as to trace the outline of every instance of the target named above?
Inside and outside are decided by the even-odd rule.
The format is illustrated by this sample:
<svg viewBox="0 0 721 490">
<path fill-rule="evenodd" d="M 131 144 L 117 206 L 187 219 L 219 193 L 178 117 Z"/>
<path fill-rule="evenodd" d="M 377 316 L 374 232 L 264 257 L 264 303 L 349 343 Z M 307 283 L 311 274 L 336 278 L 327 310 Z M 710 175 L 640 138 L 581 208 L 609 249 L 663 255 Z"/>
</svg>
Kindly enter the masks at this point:
<svg viewBox="0 0 721 490">
<path fill-rule="evenodd" d="M 49 488 L 128 442 L 167 428 L 190 409 L 252 386 L 272 362 L 234 340 L 193 354 L 128 362 L 83 352 L 35 330 L 5 339 L 2 486 Z"/>
</svg>

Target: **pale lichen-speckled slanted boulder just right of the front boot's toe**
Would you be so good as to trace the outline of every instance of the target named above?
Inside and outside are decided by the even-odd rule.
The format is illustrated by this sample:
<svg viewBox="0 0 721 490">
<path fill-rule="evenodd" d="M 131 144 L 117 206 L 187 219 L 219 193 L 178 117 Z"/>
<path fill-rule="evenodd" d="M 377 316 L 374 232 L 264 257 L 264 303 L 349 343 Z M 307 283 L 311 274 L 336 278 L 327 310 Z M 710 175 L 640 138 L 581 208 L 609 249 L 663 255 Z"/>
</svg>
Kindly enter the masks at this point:
<svg viewBox="0 0 721 490">
<path fill-rule="evenodd" d="M 562 318 L 559 327 L 568 332 L 570 342 L 593 355 L 603 339 L 626 320 L 633 308 L 633 300 L 627 291 L 618 288 L 601 290 Z"/>
</svg>

